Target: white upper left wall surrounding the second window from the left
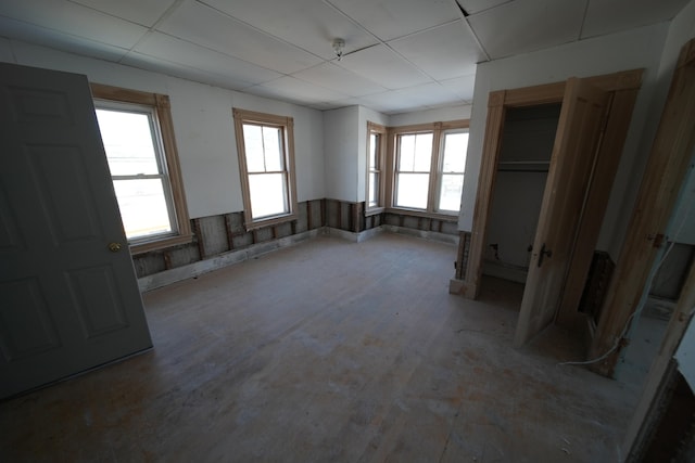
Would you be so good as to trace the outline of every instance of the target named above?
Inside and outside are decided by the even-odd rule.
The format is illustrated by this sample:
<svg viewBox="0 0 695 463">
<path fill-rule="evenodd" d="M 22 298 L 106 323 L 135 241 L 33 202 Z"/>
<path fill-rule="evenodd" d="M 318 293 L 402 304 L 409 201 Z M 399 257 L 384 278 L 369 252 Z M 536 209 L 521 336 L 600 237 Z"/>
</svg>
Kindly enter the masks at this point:
<svg viewBox="0 0 695 463">
<path fill-rule="evenodd" d="M 85 74 L 94 82 L 168 94 L 191 218 L 243 209 L 232 107 L 292 116 L 298 200 L 326 196 L 319 111 L 15 40 L 0 39 L 0 61 Z"/>
</svg>

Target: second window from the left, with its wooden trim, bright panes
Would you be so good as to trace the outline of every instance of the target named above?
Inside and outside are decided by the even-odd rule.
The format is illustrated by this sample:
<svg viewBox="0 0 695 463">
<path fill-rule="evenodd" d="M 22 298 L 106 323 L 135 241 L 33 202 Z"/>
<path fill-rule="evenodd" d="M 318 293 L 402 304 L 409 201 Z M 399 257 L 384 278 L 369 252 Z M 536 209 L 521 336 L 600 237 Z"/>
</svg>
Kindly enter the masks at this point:
<svg viewBox="0 0 695 463">
<path fill-rule="evenodd" d="M 291 117 L 233 110 L 248 230 L 296 218 Z"/>
</svg>

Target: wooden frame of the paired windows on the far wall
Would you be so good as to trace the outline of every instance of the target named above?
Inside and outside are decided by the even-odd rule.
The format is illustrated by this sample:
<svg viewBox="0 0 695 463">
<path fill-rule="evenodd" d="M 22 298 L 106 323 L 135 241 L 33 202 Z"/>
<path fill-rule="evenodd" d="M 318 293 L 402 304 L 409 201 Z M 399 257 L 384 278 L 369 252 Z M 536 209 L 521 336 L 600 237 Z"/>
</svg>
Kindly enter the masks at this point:
<svg viewBox="0 0 695 463">
<path fill-rule="evenodd" d="M 457 217 L 460 210 L 450 211 L 439 209 L 439 196 L 443 178 L 443 145 L 444 136 L 448 131 L 468 130 L 469 119 L 457 119 L 450 121 L 438 121 L 430 124 L 417 124 L 408 126 L 390 127 L 388 129 L 388 152 L 389 152 L 389 184 L 387 188 L 387 211 L 396 214 L 409 214 L 419 217 L 451 220 Z M 427 207 L 425 209 L 402 207 L 395 205 L 395 193 L 397 182 L 399 165 L 399 138 L 404 134 L 432 133 L 432 157 L 430 159 L 429 185 L 427 195 Z M 465 171 L 464 171 L 465 181 Z"/>
</svg>

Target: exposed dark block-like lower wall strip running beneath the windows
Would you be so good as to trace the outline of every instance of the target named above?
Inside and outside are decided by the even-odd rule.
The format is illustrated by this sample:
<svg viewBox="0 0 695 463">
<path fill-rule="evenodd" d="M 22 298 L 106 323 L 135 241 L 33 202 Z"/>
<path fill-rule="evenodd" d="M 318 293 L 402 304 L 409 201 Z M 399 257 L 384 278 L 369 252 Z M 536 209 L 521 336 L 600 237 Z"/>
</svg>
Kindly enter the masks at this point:
<svg viewBox="0 0 695 463">
<path fill-rule="evenodd" d="M 191 222 L 194 232 L 191 243 L 134 256 L 138 278 L 212 259 L 261 243 L 273 243 L 324 227 L 361 233 L 381 226 L 393 226 L 420 232 L 458 235 L 456 218 L 445 221 L 393 213 L 365 216 L 364 204 L 338 200 L 314 200 L 300 203 L 296 220 L 253 231 L 245 230 L 243 213 L 201 217 L 192 219 Z"/>
</svg>

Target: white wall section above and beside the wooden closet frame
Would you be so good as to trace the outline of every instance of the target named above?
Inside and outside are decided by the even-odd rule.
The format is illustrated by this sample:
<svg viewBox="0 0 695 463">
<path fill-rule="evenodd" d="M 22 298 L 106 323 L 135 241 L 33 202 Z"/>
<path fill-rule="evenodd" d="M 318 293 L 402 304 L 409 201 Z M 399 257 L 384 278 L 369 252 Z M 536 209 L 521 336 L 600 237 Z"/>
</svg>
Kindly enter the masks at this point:
<svg viewBox="0 0 695 463">
<path fill-rule="evenodd" d="M 624 227 L 616 221 L 632 175 L 632 165 L 640 149 L 641 132 L 657 83 L 659 60 L 667 33 L 668 23 L 661 23 L 479 64 L 476 73 L 466 181 L 458 221 L 459 230 L 470 231 L 472 226 L 488 115 L 488 95 L 491 91 L 549 83 L 566 80 L 569 77 L 589 77 L 645 68 L 642 89 L 637 97 L 622 160 L 606 213 L 605 232 L 602 232 L 599 237 L 599 248 L 607 248 L 612 237 L 610 232 L 618 226 Z"/>
</svg>

